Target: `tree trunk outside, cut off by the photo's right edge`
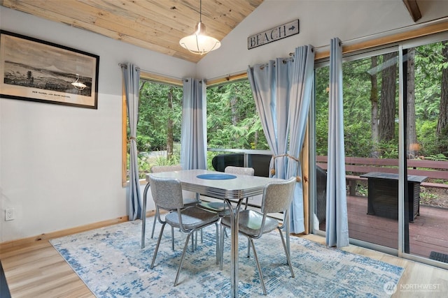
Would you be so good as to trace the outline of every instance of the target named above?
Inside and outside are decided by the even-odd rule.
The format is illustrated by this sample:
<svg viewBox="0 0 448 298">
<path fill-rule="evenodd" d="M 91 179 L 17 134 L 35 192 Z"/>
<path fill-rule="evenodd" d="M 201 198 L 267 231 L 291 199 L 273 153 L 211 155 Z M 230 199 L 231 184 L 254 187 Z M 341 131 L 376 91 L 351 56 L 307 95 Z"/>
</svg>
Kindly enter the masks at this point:
<svg viewBox="0 0 448 298">
<path fill-rule="evenodd" d="M 448 62 L 448 41 L 444 41 L 444 48 L 442 55 L 444 61 Z M 446 139 L 448 135 L 448 68 L 442 70 L 442 82 L 441 82 L 441 95 L 440 95 L 440 107 L 439 107 L 439 120 L 437 121 L 437 139 Z M 447 145 L 441 151 L 448 151 Z"/>
</svg>

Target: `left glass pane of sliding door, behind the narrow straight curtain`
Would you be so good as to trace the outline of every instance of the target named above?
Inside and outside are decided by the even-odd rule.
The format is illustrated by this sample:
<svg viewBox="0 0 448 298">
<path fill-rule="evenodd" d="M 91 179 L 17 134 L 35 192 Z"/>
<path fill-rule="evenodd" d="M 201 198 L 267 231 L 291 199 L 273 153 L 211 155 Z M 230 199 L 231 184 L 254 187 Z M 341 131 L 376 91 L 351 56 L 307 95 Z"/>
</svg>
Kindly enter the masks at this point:
<svg viewBox="0 0 448 298">
<path fill-rule="evenodd" d="M 319 230 L 325 230 L 328 72 L 328 66 L 316 69 Z M 398 248 L 398 179 L 381 180 L 378 186 L 377 180 L 363 177 L 371 172 L 398 173 L 398 53 L 344 62 L 343 90 L 349 236 Z"/>
</svg>

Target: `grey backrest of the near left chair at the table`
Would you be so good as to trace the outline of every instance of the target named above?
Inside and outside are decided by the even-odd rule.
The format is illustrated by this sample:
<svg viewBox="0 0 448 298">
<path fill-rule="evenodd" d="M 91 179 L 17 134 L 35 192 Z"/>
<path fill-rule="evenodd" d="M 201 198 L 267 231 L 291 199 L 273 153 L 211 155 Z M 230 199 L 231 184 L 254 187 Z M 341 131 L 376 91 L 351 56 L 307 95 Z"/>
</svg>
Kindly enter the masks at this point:
<svg viewBox="0 0 448 298">
<path fill-rule="evenodd" d="M 149 184 L 156 207 L 167 210 L 183 208 L 182 186 L 179 179 L 149 175 Z"/>
</svg>

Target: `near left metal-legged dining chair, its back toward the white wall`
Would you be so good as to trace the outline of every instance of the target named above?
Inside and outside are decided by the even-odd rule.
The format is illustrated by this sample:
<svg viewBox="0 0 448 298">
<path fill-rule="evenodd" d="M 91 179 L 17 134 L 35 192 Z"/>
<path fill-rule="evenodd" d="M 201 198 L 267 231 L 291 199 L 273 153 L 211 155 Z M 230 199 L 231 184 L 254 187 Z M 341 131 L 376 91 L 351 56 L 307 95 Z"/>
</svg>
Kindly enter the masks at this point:
<svg viewBox="0 0 448 298">
<path fill-rule="evenodd" d="M 158 221 L 162 223 L 157 245 L 153 255 L 153 262 L 151 262 L 151 269 L 154 267 L 155 258 L 160 246 L 160 240 L 162 239 L 163 230 L 165 225 L 171 225 L 173 228 L 179 228 L 181 232 L 186 232 L 187 239 L 183 246 L 183 252 L 181 256 L 181 262 L 177 269 L 176 279 L 174 280 L 174 286 L 177 285 L 179 280 L 179 274 L 181 273 L 183 260 L 188 246 L 190 236 L 197 230 L 205 228 L 211 224 L 216 225 L 216 259 L 218 260 L 219 246 L 218 246 L 218 220 L 219 216 L 215 212 L 207 211 L 197 206 L 185 207 L 183 204 L 182 186 L 179 179 L 160 178 L 150 175 L 151 193 L 155 201 L 155 208 L 172 210 L 169 214 L 165 215 L 165 220 L 158 214 Z"/>
</svg>

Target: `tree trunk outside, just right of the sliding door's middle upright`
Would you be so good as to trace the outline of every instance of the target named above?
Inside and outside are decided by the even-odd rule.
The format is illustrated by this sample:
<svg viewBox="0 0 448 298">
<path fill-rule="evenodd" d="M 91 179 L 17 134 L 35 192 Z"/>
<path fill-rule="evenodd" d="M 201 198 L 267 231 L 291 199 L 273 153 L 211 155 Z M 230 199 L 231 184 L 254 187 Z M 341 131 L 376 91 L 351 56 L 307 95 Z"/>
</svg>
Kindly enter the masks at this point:
<svg viewBox="0 0 448 298">
<path fill-rule="evenodd" d="M 409 158 L 414 158 L 419 151 L 417 132 L 415 127 L 415 47 L 407 50 L 407 122 L 406 122 L 406 144 Z"/>
</svg>

